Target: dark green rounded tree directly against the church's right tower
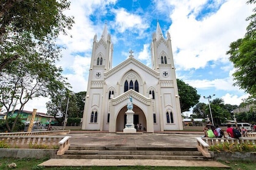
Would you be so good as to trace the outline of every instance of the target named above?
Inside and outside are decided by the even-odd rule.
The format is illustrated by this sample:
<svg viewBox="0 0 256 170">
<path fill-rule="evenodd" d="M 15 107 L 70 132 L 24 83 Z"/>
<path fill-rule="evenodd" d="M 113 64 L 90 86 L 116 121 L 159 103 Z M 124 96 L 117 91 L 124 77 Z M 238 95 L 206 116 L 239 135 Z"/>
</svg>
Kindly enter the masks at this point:
<svg viewBox="0 0 256 170">
<path fill-rule="evenodd" d="M 190 110 L 191 107 L 198 103 L 200 95 L 197 94 L 196 88 L 177 79 L 177 86 L 180 96 L 180 107 L 182 112 Z"/>
</svg>

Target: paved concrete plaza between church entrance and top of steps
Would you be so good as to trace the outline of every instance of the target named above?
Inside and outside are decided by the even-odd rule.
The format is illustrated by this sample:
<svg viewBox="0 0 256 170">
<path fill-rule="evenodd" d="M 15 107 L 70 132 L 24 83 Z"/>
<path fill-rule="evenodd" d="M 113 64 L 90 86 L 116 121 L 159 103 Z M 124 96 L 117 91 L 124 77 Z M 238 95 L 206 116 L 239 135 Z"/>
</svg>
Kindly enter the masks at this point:
<svg viewBox="0 0 256 170">
<path fill-rule="evenodd" d="M 166 148 L 195 148 L 196 137 L 202 132 L 170 133 L 143 133 L 143 134 L 116 134 L 116 133 L 82 133 L 71 132 L 71 146 L 129 146 L 129 147 L 166 147 Z"/>
</svg>

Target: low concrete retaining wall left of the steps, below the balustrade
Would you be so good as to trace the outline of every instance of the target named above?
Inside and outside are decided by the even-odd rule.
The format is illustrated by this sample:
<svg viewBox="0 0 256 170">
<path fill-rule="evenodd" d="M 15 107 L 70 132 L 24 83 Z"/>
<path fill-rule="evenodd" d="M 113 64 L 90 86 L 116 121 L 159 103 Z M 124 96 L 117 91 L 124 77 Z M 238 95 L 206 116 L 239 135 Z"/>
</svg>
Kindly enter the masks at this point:
<svg viewBox="0 0 256 170">
<path fill-rule="evenodd" d="M 0 149 L 0 157 L 7 158 L 54 158 L 57 149 Z"/>
</svg>

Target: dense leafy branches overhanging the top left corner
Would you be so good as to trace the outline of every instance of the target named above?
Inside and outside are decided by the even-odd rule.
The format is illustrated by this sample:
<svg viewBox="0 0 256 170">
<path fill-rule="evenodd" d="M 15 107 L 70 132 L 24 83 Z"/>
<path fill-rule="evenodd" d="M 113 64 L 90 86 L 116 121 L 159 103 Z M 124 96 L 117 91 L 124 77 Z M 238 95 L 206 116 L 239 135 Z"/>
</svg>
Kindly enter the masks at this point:
<svg viewBox="0 0 256 170">
<path fill-rule="evenodd" d="M 63 14 L 66 0 L 4 0 L 0 9 L 0 72 L 18 58 L 30 53 L 34 44 L 21 45 L 15 38 L 27 33 L 31 42 L 48 45 L 60 32 L 71 29 L 73 17 Z M 28 48 L 26 47 L 28 46 Z M 53 54 L 54 55 L 54 54 Z M 54 56 L 52 56 L 54 57 Z"/>
</svg>

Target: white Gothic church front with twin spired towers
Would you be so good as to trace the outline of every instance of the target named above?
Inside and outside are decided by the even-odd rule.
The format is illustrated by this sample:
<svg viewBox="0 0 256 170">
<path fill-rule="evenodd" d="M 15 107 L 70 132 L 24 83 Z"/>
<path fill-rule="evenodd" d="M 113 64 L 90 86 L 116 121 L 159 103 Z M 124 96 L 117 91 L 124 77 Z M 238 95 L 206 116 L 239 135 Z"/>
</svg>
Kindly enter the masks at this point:
<svg viewBox="0 0 256 170">
<path fill-rule="evenodd" d="M 128 50 L 128 49 L 127 49 Z M 127 100 L 133 99 L 133 124 L 145 132 L 183 130 L 171 36 L 165 39 L 157 22 L 152 36 L 152 68 L 127 60 L 112 68 L 113 44 L 105 25 L 94 36 L 82 129 L 123 131 Z"/>
</svg>

